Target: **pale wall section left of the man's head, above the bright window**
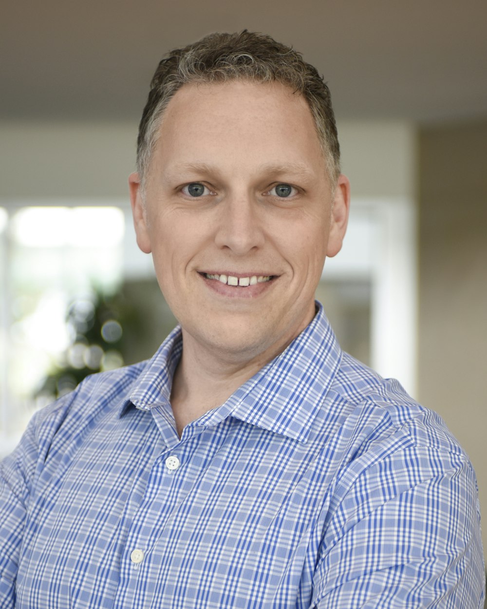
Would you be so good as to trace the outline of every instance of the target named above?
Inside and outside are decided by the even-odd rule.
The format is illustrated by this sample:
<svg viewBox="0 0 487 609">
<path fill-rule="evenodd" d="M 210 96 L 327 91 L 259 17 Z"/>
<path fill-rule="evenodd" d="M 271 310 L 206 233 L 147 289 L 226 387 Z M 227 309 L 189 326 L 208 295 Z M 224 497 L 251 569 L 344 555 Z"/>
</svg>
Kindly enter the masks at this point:
<svg viewBox="0 0 487 609">
<path fill-rule="evenodd" d="M 135 122 L 0 122 L 0 197 L 123 197 L 136 136 Z"/>
</svg>

